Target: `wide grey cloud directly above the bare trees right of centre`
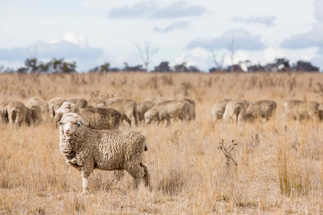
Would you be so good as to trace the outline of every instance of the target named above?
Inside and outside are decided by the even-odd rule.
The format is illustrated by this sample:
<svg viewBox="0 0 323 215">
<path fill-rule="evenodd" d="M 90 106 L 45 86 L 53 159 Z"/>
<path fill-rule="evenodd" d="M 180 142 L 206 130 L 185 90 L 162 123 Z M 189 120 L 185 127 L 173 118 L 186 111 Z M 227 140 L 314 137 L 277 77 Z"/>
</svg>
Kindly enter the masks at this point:
<svg viewBox="0 0 323 215">
<path fill-rule="evenodd" d="M 260 41 L 260 36 L 252 36 L 244 29 L 232 29 L 224 32 L 215 39 L 196 39 L 188 44 L 188 48 L 202 47 L 204 49 L 226 49 L 230 42 L 242 50 L 263 50 L 265 45 Z"/>
</svg>

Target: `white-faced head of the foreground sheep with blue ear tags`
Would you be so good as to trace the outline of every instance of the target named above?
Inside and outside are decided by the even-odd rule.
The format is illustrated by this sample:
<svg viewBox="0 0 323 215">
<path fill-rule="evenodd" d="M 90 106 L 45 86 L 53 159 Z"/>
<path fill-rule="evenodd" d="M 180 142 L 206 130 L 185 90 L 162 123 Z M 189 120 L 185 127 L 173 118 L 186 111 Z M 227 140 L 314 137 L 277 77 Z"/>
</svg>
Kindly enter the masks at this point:
<svg viewBox="0 0 323 215">
<path fill-rule="evenodd" d="M 78 127 L 85 126 L 85 122 L 76 113 L 68 113 L 57 123 L 59 125 L 60 132 L 64 132 L 66 136 L 74 134 Z"/>
</svg>

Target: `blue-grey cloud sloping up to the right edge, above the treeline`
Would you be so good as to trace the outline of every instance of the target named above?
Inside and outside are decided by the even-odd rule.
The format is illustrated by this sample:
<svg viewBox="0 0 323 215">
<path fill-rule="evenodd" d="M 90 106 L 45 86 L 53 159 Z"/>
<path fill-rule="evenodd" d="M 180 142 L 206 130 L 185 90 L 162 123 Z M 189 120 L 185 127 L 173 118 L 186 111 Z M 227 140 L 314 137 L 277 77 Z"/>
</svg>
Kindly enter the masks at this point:
<svg viewBox="0 0 323 215">
<path fill-rule="evenodd" d="M 313 25 L 313 29 L 304 34 L 292 35 L 285 39 L 281 47 L 290 49 L 302 49 L 308 47 L 323 47 L 323 22 Z"/>
</svg>

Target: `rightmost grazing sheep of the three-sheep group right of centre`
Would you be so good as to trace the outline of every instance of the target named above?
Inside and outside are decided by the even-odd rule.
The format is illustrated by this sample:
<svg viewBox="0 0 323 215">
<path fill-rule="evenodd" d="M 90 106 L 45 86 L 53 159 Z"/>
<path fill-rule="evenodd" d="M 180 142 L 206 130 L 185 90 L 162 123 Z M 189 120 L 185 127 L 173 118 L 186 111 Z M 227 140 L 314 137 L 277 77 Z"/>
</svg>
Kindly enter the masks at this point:
<svg viewBox="0 0 323 215">
<path fill-rule="evenodd" d="M 268 121 L 276 113 L 277 104 L 273 100 L 261 100 L 250 104 L 242 117 L 243 121 L 253 122 L 258 117 Z"/>
</svg>

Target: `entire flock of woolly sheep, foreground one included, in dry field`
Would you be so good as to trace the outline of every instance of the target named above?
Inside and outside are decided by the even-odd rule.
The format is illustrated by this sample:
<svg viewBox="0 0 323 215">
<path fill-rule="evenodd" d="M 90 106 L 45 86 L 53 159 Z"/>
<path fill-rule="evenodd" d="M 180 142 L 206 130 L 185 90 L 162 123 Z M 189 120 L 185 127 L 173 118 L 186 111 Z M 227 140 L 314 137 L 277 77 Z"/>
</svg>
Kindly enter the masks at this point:
<svg viewBox="0 0 323 215">
<path fill-rule="evenodd" d="M 212 116 L 214 120 L 228 122 L 269 120 L 275 115 L 276 106 L 272 100 L 252 103 L 243 99 L 223 99 L 214 104 Z M 284 113 L 289 119 L 317 120 L 322 118 L 319 107 L 315 101 L 287 100 Z M 83 193 L 88 192 L 88 177 L 94 169 L 115 171 L 119 179 L 125 170 L 133 177 L 134 188 L 141 180 L 150 187 L 149 171 L 142 163 L 143 151 L 148 150 L 145 136 L 133 130 L 119 130 L 120 123 L 126 121 L 135 126 L 164 121 L 170 124 L 175 119 L 191 121 L 195 119 L 195 102 L 188 98 L 156 98 L 136 103 L 132 99 L 86 101 L 75 97 L 53 98 L 47 103 L 32 97 L 25 104 L 19 101 L 0 104 L 0 119 L 11 127 L 22 123 L 38 124 L 50 118 L 59 125 L 59 149 L 66 162 L 81 173 Z"/>
</svg>

